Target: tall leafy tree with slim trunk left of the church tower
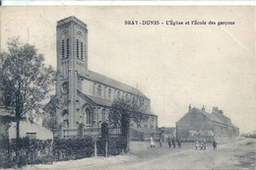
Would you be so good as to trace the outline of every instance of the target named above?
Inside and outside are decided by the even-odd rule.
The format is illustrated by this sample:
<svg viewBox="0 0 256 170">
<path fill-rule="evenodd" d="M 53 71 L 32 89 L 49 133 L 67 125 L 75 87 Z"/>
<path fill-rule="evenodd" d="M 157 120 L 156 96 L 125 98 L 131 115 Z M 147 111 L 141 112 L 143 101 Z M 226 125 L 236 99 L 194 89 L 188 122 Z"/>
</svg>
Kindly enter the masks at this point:
<svg viewBox="0 0 256 170">
<path fill-rule="evenodd" d="M 20 120 L 38 119 L 42 101 L 49 97 L 55 82 L 55 71 L 43 64 L 44 57 L 30 44 L 21 44 L 18 38 L 8 41 L 8 53 L 1 53 L 2 107 L 15 116 L 16 161 L 19 165 Z"/>
</svg>

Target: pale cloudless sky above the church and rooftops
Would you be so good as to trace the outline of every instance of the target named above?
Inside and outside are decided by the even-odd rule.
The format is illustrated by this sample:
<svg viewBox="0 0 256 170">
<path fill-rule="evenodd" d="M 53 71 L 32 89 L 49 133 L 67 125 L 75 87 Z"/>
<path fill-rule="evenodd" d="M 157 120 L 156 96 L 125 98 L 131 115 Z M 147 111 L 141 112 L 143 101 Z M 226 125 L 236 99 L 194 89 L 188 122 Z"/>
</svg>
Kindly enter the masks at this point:
<svg viewBox="0 0 256 170">
<path fill-rule="evenodd" d="M 56 69 L 56 23 L 69 16 L 88 26 L 89 69 L 138 87 L 151 98 L 159 127 L 175 126 L 191 104 L 219 107 L 241 133 L 256 130 L 255 7 L 2 7 L 1 50 L 20 36 Z M 183 25 L 166 25 L 171 20 Z M 191 25 L 195 20 L 206 25 Z"/>
</svg>

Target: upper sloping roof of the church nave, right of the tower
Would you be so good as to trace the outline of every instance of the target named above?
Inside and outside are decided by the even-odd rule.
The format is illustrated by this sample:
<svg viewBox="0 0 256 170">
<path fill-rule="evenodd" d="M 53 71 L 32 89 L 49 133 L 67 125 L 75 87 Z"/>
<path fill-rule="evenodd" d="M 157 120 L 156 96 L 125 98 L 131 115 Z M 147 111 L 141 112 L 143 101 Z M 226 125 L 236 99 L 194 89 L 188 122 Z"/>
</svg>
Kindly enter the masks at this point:
<svg viewBox="0 0 256 170">
<path fill-rule="evenodd" d="M 87 74 L 84 74 L 84 73 L 81 73 L 81 72 L 78 72 L 78 74 L 85 78 L 85 79 L 88 79 L 88 80 L 91 80 L 91 81 L 94 81 L 96 83 L 99 83 L 99 84 L 103 84 L 103 85 L 108 85 L 108 86 L 112 86 L 114 88 L 118 88 L 120 90 L 123 90 L 123 91 L 126 91 L 126 92 L 130 92 L 132 94 L 135 94 L 135 95 L 140 95 L 140 96 L 143 96 L 145 98 L 148 98 L 146 95 L 144 95 L 139 89 L 135 88 L 135 87 L 132 87 L 130 85 L 125 85 L 125 84 L 122 84 L 118 81 L 115 81 L 113 79 L 110 79 L 110 78 L 107 78 L 103 75 L 100 75 L 100 74 L 97 74 L 96 72 L 93 72 L 93 71 L 89 71 L 89 75 Z M 101 99 L 101 98 L 100 98 Z M 149 98 L 148 98 L 149 99 Z"/>
</svg>

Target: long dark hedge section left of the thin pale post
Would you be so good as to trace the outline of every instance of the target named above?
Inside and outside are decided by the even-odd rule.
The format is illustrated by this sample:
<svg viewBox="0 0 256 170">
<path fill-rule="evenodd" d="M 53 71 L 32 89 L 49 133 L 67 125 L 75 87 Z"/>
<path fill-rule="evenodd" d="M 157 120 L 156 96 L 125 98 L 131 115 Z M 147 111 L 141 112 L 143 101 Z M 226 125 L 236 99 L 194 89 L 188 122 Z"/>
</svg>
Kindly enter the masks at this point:
<svg viewBox="0 0 256 170">
<path fill-rule="evenodd" d="M 46 164 L 52 161 L 75 160 L 91 157 L 94 153 L 92 138 L 54 139 L 48 141 L 19 139 L 19 164 Z M 0 140 L 0 167 L 11 168 L 16 164 L 16 140 Z"/>
</svg>

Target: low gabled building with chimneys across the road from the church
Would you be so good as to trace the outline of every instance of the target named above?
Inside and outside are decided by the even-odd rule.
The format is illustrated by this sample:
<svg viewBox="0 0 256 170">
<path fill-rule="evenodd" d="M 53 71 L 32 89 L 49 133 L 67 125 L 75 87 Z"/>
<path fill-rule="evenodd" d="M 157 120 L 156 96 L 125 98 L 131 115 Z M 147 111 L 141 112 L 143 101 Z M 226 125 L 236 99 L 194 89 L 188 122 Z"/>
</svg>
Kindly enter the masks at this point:
<svg viewBox="0 0 256 170">
<path fill-rule="evenodd" d="M 223 110 L 214 107 L 212 113 L 205 108 L 191 108 L 178 122 L 176 122 L 176 136 L 181 141 L 195 142 L 207 140 L 224 142 L 239 136 L 239 129 L 231 124 L 231 120 L 224 116 Z"/>
</svg>

